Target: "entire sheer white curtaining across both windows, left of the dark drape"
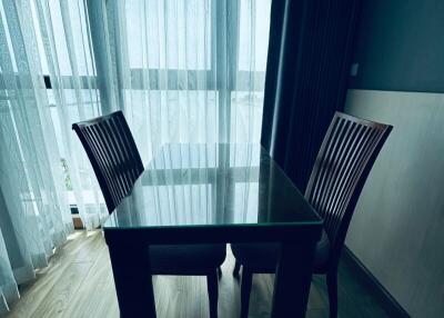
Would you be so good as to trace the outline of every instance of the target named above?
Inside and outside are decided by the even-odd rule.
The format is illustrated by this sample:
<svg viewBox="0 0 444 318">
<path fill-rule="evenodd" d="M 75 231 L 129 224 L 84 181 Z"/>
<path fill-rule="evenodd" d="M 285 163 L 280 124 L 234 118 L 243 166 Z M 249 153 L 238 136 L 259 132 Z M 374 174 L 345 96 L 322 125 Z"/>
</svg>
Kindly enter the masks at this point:
<svg viewBox="0 0 444 318">
<path fill-rule="evenodd" d="M 0 314 L 108 212 L 75 121 L 121 109 L 167 142 L 259 142 L 271 0 L 0 1 Z"/>
</svg>

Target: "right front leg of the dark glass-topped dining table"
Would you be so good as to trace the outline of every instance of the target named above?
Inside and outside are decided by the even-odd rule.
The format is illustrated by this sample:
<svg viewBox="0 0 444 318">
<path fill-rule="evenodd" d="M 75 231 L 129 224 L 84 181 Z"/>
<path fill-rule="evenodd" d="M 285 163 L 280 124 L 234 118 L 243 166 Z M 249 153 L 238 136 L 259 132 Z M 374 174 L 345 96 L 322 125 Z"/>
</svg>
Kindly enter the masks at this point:
<svg viewBox="0 0 444 318">
<path fill-rule="evenodd" d="M 305 317 L 315 242 L 282 244 L 271 317 Z"/>
</svg>

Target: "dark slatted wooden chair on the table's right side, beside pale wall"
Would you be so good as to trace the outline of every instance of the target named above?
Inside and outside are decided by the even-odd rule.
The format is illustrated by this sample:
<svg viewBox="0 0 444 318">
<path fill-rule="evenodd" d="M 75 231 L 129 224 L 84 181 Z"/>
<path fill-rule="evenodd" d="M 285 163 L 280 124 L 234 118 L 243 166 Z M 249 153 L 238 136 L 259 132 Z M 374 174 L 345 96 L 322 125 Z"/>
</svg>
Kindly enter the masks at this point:
<svg viewBox="0 0 444 318">
<path fill-rule="evenodd" d="M 357 199 L 392 126 L 336 112 L 314 163 L 305 198 L 324 220 L 313 272 L 326 275 L 330 317 L 337 316 L 337 265 Z M 232 244 L 241 279 L 241 317 L 248 317 L 253 274 L 275 271 L 278 244 Z"/>
</svg>

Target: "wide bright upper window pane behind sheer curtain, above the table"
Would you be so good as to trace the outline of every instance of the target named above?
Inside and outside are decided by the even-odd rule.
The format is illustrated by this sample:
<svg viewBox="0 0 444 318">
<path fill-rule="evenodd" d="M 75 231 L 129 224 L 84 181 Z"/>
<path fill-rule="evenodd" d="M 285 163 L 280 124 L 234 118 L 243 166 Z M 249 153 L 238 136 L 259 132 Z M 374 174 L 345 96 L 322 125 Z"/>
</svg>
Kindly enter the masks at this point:
<svg viewBox="0 0 444 318">
<path fill-rule="evenodd" d="M 130 68 L 209 69 L 210 4 L 210 0 L 127 1 Z"/>
</svg>

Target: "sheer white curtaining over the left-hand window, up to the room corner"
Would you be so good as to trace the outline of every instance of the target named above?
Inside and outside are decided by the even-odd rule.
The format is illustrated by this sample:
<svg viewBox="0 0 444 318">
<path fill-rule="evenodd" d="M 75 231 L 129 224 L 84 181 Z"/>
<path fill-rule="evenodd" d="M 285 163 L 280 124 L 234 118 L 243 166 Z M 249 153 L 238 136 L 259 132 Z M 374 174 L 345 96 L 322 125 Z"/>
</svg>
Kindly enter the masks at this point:
<svg viewBox="0 0 444 318">
<path fill-rule="evenodd" d="M 100 113 L 88 30 L 82 0 L 0 2 L 0 314 L 73 230 L 69 203 L 107 215 L 70 128 Z"/>
</svg>

